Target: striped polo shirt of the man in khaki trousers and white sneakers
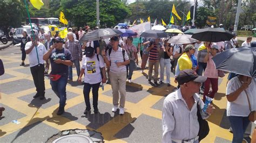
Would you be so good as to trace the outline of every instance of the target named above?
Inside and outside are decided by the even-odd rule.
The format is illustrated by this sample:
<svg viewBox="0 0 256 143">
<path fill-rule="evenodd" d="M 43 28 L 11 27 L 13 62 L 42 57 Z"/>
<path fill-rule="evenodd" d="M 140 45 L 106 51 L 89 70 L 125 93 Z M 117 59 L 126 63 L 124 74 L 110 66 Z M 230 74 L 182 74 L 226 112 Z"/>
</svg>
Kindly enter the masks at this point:
<svg viewBox="0 0 256 143">
<path fill-rule="evenodd" d="M 117 67 L 117 64 L 116 64 L 117 62 L 124 62 L 124 59 L 125 59 L 125 61 L 129 60 L 129 57 L 126 52 L 123 57 L 123 52 L 122 52 L 121 47 L 118 47 L 117 51 L 114 51 L 114 49 L 112 49 L 110 56 L 109 56 L 109 50 L 107 50 L 106 57 L 107 57 L 107 60 L 109 60 L 111 63 L 111 65 L 110 65 L 111 72 L 122 73 L 122 72 L 126 71 L 126 66 Z"/>
</svg>

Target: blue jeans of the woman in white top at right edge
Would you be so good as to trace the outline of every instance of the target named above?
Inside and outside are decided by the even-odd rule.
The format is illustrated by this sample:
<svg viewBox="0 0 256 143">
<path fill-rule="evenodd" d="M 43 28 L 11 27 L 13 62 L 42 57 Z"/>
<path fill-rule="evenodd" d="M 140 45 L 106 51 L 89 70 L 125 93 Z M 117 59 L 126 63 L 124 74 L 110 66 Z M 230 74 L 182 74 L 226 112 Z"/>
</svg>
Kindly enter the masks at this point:
<svg viewBox="0 0 256 143">
<path fill-rule="evenodd" d="M 244 133 L 250 120 L 248 117 L 239 117 L 239 116 L 228 116 L 230 124 L 233 130 L 233 143 L 240 143 L 244 138 Z"/>
</svg>

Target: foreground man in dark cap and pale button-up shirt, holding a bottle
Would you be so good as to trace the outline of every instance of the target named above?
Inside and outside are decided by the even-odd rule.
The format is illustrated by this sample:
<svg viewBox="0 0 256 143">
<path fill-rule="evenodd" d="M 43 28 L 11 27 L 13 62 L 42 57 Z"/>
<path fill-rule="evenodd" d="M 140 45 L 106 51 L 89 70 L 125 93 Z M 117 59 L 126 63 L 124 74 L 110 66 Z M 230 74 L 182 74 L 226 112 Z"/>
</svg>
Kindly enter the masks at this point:
<svg viewBox="0 0 256 143">
<path fill-rule="evenodd" d="M 192 69 L 180 71 L 176 77 L 180 88 L 169 94 L 163 105 L 163 138 L 162 142 L 199 142 L 199 122 L 197 107 L 201 117 L 206 119 L 212 112 L 213 106 L 208 105 L 206 112 L 202 109 L 204 103 L 197 94 L 201 83 L 206 77 L 197 75 Z"/>
</svg>

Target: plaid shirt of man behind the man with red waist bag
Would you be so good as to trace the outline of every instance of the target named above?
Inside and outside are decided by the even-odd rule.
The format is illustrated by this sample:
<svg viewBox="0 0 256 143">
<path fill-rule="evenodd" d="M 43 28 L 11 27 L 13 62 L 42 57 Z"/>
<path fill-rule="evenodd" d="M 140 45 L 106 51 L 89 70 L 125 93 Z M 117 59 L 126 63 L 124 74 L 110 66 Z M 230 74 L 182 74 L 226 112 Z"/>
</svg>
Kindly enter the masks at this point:
<svg viewBox="0 0 256 143">
<path fill-rule="evenodd" d="M 73 41 L 66 41 L 65 48 L 69 49 L 72 54 L 73 60 L 77 60 L 79 58 L 82 59 L 82 48 L 78 40 L 74 39 Z"/>
</svg>

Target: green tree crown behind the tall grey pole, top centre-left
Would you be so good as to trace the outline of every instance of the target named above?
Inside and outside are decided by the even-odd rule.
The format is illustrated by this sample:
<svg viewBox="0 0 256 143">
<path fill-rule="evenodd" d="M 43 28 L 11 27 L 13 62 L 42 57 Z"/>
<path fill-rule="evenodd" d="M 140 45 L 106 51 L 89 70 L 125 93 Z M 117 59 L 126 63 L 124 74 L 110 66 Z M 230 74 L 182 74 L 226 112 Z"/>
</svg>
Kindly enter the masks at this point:
<svg viewBox="0 0 256 143">
<path fill-rule="evenodd" d="M 61 1 L 61 10 L 66 19 L 76 26 L 96 26 L 96 1 Z M 100 25 L 111 27 L 130 14 L 130 10 L 120 0 L 99 1 Z"/>
</svg>

